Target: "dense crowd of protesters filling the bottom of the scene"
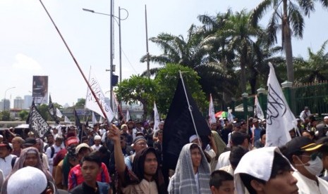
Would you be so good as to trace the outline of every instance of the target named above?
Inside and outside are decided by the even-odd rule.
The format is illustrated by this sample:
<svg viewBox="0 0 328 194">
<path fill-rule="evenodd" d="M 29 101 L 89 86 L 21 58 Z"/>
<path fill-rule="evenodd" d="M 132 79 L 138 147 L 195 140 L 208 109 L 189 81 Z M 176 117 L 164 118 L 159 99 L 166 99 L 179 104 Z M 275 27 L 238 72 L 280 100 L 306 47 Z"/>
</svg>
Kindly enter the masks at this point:
<svg viewBox="0 0 328 194">
<path fill-rule="evenodd" d="M 208 145 L 195 133 L 169 182 L 162 173 L 164 121 L 54 126 L 44 138 L 0 135 L 0 193 L 328 193 L 328 117 L 308 108 L 291 141 L 265 147 L 265 119 L 218 118 Z"/>
</svg>

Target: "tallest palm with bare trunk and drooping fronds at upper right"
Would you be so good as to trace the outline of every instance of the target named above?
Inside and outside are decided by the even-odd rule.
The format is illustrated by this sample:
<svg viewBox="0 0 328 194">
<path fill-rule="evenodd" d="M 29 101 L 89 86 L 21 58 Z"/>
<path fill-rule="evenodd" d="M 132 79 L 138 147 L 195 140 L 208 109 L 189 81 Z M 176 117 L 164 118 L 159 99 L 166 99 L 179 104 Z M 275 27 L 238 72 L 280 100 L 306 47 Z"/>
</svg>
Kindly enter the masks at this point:
<svg viewBox="0 0 328 194">
<path fill-rule="evenodd" d="M 272 10 L 272 16 L 267 25 L 269 44 L 277 43 L 277 31 L 281 30 L 282 46 L 286 55 L 287 77 L 294 81 L 293 51 L 291 36 L 302 39 L 304 29 L 303 15 L 310 16 L 315 11 L 316 0 L 264 0 L 254 10 L 251 16 L 253 26 L 257 26 L 265 12 Z M 317 0 L 322 6 L 328 7 L 327 0 Z M 279 22 L 280 21 L 280 22 Z"/>
</svg>

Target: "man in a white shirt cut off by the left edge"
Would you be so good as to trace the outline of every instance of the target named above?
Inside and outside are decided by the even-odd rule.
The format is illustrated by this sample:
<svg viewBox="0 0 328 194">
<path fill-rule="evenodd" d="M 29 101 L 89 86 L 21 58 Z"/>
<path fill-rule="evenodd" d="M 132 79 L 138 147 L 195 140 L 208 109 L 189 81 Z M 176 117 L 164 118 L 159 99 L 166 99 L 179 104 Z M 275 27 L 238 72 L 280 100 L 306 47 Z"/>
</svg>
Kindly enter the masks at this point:
<svg viewBox="0 0 328 194">
<path fill-rule="evenodd" d="M 17 158 L 16 155 L 11 154 L 12 150 L 8 142 L 3 141 L 0 143 L 0 169 L 5 178 L 11 173 L 11 169 Z"/>
</svg>

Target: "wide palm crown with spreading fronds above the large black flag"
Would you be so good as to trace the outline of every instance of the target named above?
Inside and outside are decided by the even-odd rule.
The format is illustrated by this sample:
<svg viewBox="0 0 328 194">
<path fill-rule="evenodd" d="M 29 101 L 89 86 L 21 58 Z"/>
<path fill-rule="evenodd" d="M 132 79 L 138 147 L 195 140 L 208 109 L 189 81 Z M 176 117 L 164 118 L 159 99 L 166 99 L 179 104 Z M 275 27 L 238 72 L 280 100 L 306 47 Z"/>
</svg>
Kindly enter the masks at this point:
<svg viewBox="0 0 328 194">
<path fill-rule="evenodd" d="M 159 56 L 150 56 L 150 60 L 160 65 L 176 63 L 192 68 L 201 77 L 200 84 L 207 96 L 209 93 L 218 93 L 218 91 L 234 93 L 233 88 L 236 84 L 233 76 L 227 74 L 226 68 L 222 67 L 218 60 L 209 59 L 207 48 L 201 44 L 202 40 L 203 34 L 195 25 L 191 25 L 188 30 L 187 39 L 184 39 L 182 35 L 159 34 L 157 37 L 150 38 L 150 41 L 162 48 L 163 53 Z M 142 56 L 140 59 L 141 62 L 145 60 L 147 56 Z M 150 72 L 154 75 L 157 70 L 159 68 Z"/>
</svg>

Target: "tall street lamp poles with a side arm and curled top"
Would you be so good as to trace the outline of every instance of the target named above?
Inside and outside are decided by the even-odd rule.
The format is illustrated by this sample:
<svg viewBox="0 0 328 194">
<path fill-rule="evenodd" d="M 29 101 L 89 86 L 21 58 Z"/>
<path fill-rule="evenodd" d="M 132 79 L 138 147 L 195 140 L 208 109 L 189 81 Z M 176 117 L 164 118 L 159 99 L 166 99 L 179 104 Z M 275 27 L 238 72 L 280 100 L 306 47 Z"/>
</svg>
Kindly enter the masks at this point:
<svg viewBox="0 0 328 194">
<path fill-rule="evenodd" d="M 110 59 L 110 85 L 111 85 L 111 92 L 110 92 L 110 107 L 113 108 L 113 84 L 112 84 L 112 79 L 113 79 L 113 18 L 117 18 L 119 20 L 119 22 L 117 20 L 116 23 L 119 25 L 119 65 L 120 65 L 120 82 L 122 82 L 122 53 L 121 53 L 121 20 L 126 20 L 128 18 L 128 11 L 125 8 L 120 8 L 119 7 L 119 17 L 116 17 L 115 15 L 113 15 L 113 0 L 111 0 L 111 13 L 107 14 L 107 13 L 99 13 L 96 11 L 93 11 L 91 9 L 87 9 L 87 8 L 83 8 L 83 11 L 88 11 L 91 13 L 97 13 L 97 14 L 101 14 L 101 15 L 109 15 L 111 16 L 111 22 L 110 22 L 110 41 L 111 41 L 111 46 L 110 46 L 110 52 L 111 52 L 111 59 Z M 126 11 L 127 15 L 126 18 L 121 18 L 121 10 Z"/>
</svg>

